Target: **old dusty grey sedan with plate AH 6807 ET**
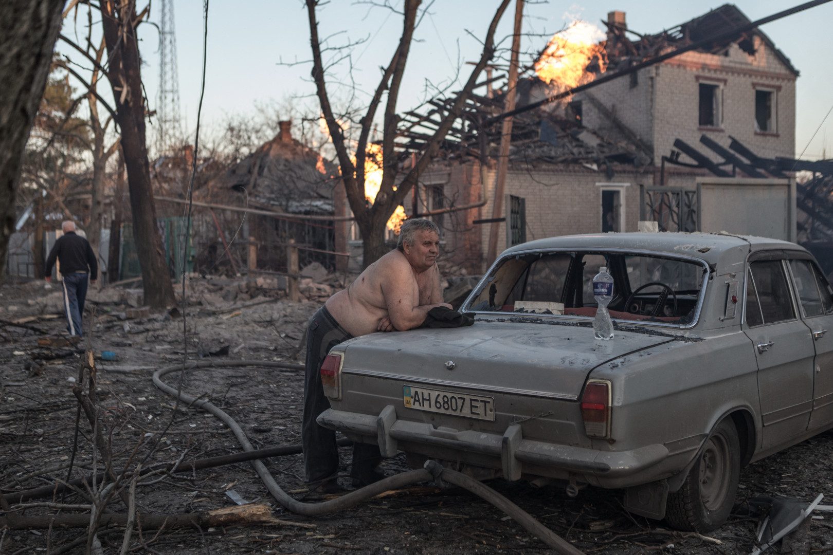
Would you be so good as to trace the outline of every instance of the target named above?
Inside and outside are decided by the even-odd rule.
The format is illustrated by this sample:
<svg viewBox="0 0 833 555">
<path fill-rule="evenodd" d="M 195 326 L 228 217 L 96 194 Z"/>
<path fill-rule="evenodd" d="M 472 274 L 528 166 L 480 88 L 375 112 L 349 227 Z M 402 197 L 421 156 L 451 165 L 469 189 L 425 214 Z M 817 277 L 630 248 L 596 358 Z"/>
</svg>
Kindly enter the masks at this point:
<svg viewBox="0 0 833 555">
<path fill-rule="evenodd" d="M 594 339 L 606 266 L 615 336 Z M 631 513 L 704 532 L 740 469 L 833 426 L 833 297 L 798 245 L 635 233 L 506 250 L 471 327 L 337 345 L 318 422 L 476 478 L 626 488 Z"/>
</svg>

